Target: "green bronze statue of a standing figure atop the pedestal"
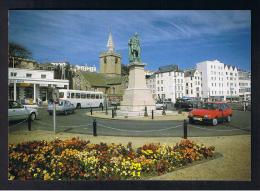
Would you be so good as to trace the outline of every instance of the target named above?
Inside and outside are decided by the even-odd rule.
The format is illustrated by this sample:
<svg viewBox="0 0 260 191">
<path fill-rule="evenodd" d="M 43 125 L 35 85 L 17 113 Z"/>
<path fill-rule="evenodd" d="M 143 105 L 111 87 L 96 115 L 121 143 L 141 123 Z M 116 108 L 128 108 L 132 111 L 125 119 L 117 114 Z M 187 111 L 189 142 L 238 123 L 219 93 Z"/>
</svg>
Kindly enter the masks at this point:
<svg viewBox="0 0 260 191">
<path fill-rule="evenodd" d="M 135 35 L 129 39 L 128 42 L 129 46 L 129 62 L 141 62 L 141 48 L 140 48 L 140 41 L 138 34 L 135 33 Z"/>
</svg>

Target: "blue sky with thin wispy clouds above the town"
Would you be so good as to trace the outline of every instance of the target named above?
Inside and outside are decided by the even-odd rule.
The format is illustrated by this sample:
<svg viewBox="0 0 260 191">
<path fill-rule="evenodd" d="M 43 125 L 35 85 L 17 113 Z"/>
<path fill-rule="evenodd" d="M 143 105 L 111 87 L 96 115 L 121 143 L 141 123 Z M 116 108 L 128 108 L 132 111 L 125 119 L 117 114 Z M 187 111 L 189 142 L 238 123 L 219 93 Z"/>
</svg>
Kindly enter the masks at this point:
<svg viewBox="0 0 260 191">
<path fill-rule="evenodd" d="M 181 69 L 205 60 L 251 70 L 250 11 L 12 10 L 9 41 L 38 62 L 95 65 L 111 29 L 115 49 L 128 64 L 128 39 L 137 32 L 146 69 L 168 64 Z"/>
</svg>

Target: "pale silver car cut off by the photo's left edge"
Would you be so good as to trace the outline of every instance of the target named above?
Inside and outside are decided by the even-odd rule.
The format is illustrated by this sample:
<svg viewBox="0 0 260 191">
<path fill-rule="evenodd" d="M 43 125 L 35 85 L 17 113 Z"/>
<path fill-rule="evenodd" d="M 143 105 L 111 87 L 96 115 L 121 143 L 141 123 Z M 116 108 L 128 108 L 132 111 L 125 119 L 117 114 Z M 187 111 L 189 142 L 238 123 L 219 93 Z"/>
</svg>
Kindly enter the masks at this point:
<svg viewBox="0 0 260 191">
<path fill-rule="evenodd" d="M 38 117 L 38 111 L 35 108 L 29 108 L 17 101 L 8 101 L 8 120 L 16 121 L 31 118 L 34 121 Z"/>
</svg>

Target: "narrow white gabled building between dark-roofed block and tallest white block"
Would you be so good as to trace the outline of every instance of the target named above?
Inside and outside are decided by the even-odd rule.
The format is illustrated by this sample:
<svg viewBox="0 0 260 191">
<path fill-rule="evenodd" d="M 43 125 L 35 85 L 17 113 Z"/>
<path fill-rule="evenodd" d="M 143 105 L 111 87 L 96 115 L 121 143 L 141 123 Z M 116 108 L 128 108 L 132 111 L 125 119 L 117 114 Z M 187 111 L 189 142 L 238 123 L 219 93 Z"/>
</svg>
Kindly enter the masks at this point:
<svg viewBox="0 0 260 191">
<path fill-rule="evenodd" d="M 184 71 L 185 96 L 200 99 L 202 97 L 202 73 L 197 69 Z"/>
</svg>

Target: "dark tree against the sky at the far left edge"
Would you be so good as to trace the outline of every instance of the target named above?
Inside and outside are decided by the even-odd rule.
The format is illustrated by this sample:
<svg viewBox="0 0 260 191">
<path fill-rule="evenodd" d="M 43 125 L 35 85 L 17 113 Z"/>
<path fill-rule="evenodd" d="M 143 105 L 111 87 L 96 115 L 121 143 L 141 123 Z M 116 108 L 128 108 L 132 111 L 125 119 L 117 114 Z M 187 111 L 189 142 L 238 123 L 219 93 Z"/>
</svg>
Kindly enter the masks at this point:
<svg viewBox="0 0 260 191">
<path fill-rule="evenodd" d="M 15 42 L 10 42 L 9 43 L 9 56 L 10 57 L 19 57 L 19 58 L 31 58 L 32 53 L 29 51 L 26 47 L 15 43 Z"/>
</svg>

